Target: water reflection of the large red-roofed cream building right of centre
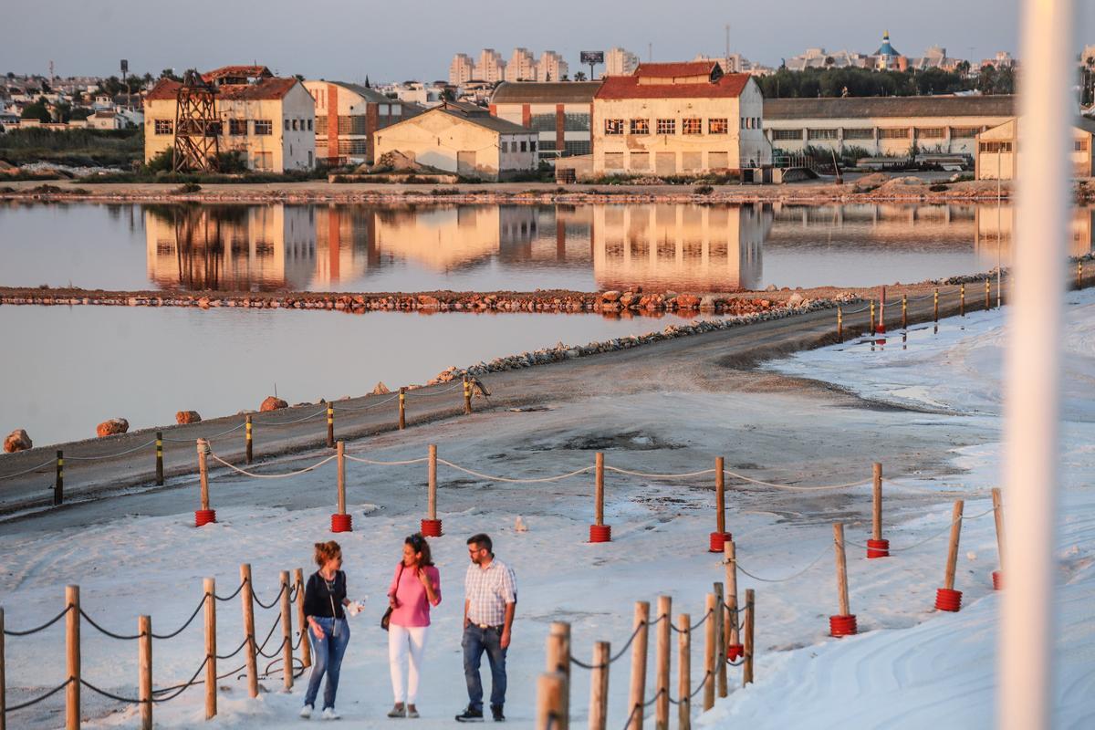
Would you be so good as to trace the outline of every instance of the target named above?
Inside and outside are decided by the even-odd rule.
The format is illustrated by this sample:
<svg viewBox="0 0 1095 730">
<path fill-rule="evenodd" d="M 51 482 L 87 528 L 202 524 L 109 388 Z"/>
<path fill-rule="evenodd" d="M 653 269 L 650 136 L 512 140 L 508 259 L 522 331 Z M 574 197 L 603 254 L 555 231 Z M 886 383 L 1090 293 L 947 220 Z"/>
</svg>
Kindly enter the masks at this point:
<svg viewBox="0 0 1095 730">
<path fill-rule="evenodd" d="M 593 274 L 602 289 L 756 289 L 770 207 L 626 205 L 593 211 Z"/>
</svg>

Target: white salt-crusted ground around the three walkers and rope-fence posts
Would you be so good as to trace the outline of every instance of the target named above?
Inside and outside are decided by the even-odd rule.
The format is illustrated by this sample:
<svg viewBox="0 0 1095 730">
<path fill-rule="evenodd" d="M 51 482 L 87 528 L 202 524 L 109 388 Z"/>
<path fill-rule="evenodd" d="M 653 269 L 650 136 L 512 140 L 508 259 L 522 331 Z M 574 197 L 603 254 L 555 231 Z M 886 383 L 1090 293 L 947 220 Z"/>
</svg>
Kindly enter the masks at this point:
<svg viewBox="0 0 1095 730">
<path fill-rule="evenodd" d="M 1059 726 L 1083 728 L 1095 721 L 1095 630 L 1090 611 L 1095 604 L 1095 391 L 1085 387 L 1095 372 L 1091 346 L 1095 297 L 1071 294 L 1070 302 L 1069 389 L 1076 398 L 1067 412 L 1070 420 L 1064 430 L 1057 686 Z M 873 351 L 868 344 L 851 344 L 774 366 L 914 410 L 850 408 L 802 392 L 664 391 L 561 404 L 543 413 L 484 416 L 471 425 L 462 420 L 441 427 L 430 438 L 442 444 L 442 456 L 510 476 L 570 471 L 588 464 L 591 450 L 604 449 L 610 464 L 650 472 L 693 471 L 707 465 L 699 466 L 698 461 L 726 453 L 729 468 L 763 467 L 775 479 L 780 467 L 772 463 L 780 463 L 782 432 L 788 463 L 783 478 L 775 480 L 808 475 L 816 482 L 815 470 L 798 459 L 786 439 L 802 439 L 810 448 L 815 443 L 809 439 L 817 439 L 820 453 L 840 449 L 845 441 L 869 439 L 873 432 L 899 431 L 934 468 L 887 486 L 887 536 L 895 557 L 868 561 L 861 549 L 850 548 L 851 603 L 864 631 L 860 637 L 839 641 L 827 637 L 827 617 L 837 612 L 829 525 L 844 520 L 849 538 L 863 542 L 869 529 L 867 490 L 804 496 L 735 488 L 728 520 L 745 568 L 780 578 L 818 563 L 792 582 L 742 576 L 742 590 L 758 590 L 758 682 L 747 690 L 735 688 L 699 721 L 718 729 L 737 727 L 742 720 L 754 728 L 991 727 L 999 604 L 989 581 L 996 567 L 991 517 L 964 525 L 957 588 L 965 592 L 967 607 L 960 614 L 932 611 L 943 578 L 945 536 L 897 551 L 945 529 L 950 500 L 957 496 L 967 499 L 969 515 L 990 506 L 988 490 L 998 478 L 1000 418 L 994 393 L 1001 324 L 999 313 L 978 314 L 944 323 L 938 335 L 930 329 L 912 333 L 904 343 L 908 349 L 901 349 L 898 335 Z M 423 452 L 426 438 L 388 434 L 367 445 L 381 459 L 413 457 Z M 964 445 L 944 463 L 932 463 L 933 444 L 949 441 Z M 314 459 L 306 455 L 295 464 L 287 462 L 285 468 Z M 350 471 L 357 529 L 339 540 L 355 598 L 371 598 L 369 610 L 353 624 L 338 707 L 343 726 L 371 728 L 391 722 L 383 718 L 391 697 L 384 635 L 376 623 L 401 538 L 425 508 L 425 475 L 417 467 L 366 472 L 357 466 Z M 78 582 L 85 611 L 114 630 L 135 630 L 140 613 L 153 616 L 154 630 L 170 630 L 196 605 L 204 576 L 216 576 L 219 592 L 228 593 L 238 582 L 239 563 L 245 559 L 253 564 L 256 588 L 268 601 L 276 592 L 277 570 L 307 568 L 310 544 L 327 534 L 333 479 L 331 470 L 262 482 L 215 474 L 214 499 L 221 521 L 200 531 L 188 522 L 193 486 L 7 523 L 0 534 L 0 591 L 8 626 L 23 628 L 51 616 L 61 607 L 62 587 Z M 610 475 L 608 521 L 615 536 L 610 545 L 583 542 L 590 521 L 589 493 L 586 477 L 499 485 L 442 470 L 440 509 L 448 536 L 435 541 L 435 549 L 445 602 L 435 613 L 418 726 L 451 727 L 452 715 L 464 702 L 459 649 L 463 535 L 491 531 L 499 557 L 518 571 L 520 610 L 507 703 L 511 726 L 532 726 L 534 679 L 542 670 L 543 638 L 551 621 L 573 623 L 575 652 L 588 659 L 595 640 L 621 645 L 630 633 L 635 600 L 667 593 L 673 596 L 675 614 L 690 612 L 694 621 L 702 613 L 703 593 L 722 577 L 718 560 L 703 552 L 712 529 L 707 480 L 681 486 Z M 517 514 L 525 517 L 529 532 L 514 532 Z M 260 612 L 262 636 L 274 621 L 274 613 Z M 218 622 L 221 649 L 234 648 L 241 636 L 238 602 L 220 604 Z M 64 679 L 60 626 L 33 638 L 10 638 L 7 652 L 10 704 Z M 189 676 L 200 654 L 200 622 L 174 640 L 158 641 L 157 684 Z M 120 694 L 134 691 L 132 645 L 99 636 L 85 626 L 83 656 L 85 679 Z M 696 646 L 693 661 L 701 657 L 702 645 Z M 221 668 L 234 665 L 226 662 Z M 622 727 L 626 715 L 627 662 L 613 670 L 610 728 Z M 731 684 L 737 679 L 731 673 Z M 278 692 L 280 681 L 275 677 L 264 683 L 269 692 L 255 702 L 246 698 L 243 682 L 226 680 L 220 715 L 210 723 L 203 721 L 201 691 L 195 688 L 158 706 L 157 725 L 300 727 L 296 718 L 300 683 L 286 695 Z M 88 727 L 136 726 L 134 708 L 119 709 L 87 691 L 84 697 Z M 585 722 L 587 698 L 588 680 L 576 671 L 572 721 L 577 725 Z M 50 700 L 23 710 L 11 718 L 12 727 L 60 727 L 60 702 Z"/>
</svg>

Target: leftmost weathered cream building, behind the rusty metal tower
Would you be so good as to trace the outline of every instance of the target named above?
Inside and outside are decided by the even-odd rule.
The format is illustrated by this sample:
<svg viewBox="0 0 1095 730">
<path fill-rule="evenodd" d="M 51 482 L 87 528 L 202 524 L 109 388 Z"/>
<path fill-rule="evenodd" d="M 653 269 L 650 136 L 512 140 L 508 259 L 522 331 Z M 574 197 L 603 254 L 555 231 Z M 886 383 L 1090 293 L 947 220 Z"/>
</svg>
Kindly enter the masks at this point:
<svg viewBox="0 0 1095 730">
<path fill-rule="evenodd" d="M 265 66 L 226 66 L 201 74 L 209 92 L 203 120 L 208 149 L 238 152 L 249 170 L 284 173 L 315 164 L 315 104 L 295 78 L 277 78 Z M 145 97 L 145 162 L 176 147 L 180 91 L 161 79 Z"/>
</svg>

